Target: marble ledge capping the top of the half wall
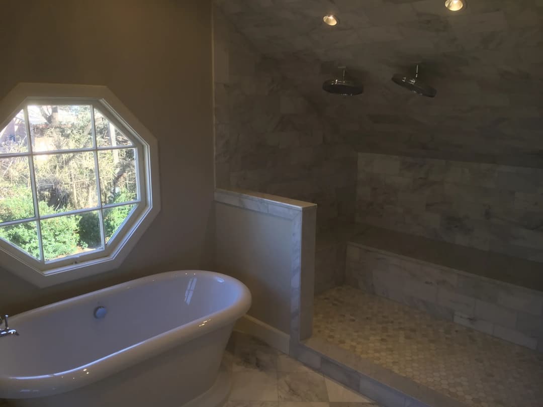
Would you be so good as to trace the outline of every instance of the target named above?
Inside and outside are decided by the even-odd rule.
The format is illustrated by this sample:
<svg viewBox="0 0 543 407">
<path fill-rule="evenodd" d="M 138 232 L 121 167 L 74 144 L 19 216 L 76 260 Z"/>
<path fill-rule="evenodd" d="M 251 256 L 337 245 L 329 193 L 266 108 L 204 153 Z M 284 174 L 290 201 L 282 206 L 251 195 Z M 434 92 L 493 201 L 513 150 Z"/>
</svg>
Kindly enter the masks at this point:
<svg viewBox="0 0 543 407">
<path fill-rule="evenodd" d="M 317 209 L 315 203 L 245 189 L 217 188 L 215 190 L 215 200 L 226 203 L 227 205 L 260 213 L 269 213 L 270 215 L 287 219 L 293 219 L 300 212 L 315 211 Z"/>
</svg>

